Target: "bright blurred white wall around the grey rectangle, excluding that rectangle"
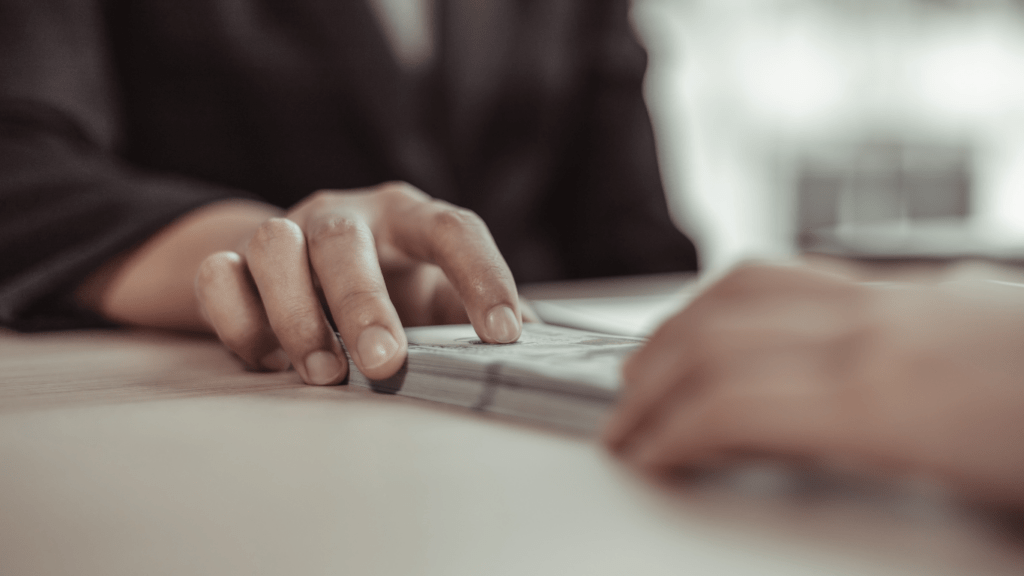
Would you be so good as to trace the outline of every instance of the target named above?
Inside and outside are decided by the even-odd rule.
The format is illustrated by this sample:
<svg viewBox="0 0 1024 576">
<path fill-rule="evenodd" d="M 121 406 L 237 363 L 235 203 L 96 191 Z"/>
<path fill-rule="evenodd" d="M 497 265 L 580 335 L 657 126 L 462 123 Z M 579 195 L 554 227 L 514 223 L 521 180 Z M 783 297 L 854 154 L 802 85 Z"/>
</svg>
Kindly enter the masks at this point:
<svg viewBox="0 0 1024 576">
<path fill-rule="evenodd" d="M 968 232 L 1024 246 L 1017 2 L 635 0 L 633 15 L 671 204 L 710 269 L 793 253 L 802 163 L 858 142 L 968 151 Z"/>
</svg>

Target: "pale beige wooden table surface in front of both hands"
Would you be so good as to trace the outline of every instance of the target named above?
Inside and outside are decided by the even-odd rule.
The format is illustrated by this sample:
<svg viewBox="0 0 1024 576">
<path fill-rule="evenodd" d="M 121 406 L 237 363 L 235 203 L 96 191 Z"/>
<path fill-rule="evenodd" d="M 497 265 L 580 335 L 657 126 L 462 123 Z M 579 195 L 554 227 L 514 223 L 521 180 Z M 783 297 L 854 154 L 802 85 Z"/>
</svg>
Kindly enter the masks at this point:
<svg viewBox="0 0 1024 576">
<path fill-rule="evenodd" d="M 0 331 L 2 576 L 1024 573 L 976 510 L 759 494 L 213 340 Z"/>
</svg>

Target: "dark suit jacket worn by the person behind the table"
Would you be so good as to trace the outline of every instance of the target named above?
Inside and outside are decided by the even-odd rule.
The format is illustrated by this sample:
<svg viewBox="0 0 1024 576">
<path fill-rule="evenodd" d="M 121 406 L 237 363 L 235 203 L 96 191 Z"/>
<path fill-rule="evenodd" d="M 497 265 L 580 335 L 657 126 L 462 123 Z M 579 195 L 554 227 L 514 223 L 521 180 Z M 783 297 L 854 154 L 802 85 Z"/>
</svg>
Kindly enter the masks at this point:
<svg viewBox="0 0 1024 576">
<path fill-rule="evenodd" d="M 0 323 L 203 204 L 404 179 L 518 281 L 687 270 L 626 0 L 441 0 L 402 74 L 359 0 L 0 0 Z"/>
</svg>

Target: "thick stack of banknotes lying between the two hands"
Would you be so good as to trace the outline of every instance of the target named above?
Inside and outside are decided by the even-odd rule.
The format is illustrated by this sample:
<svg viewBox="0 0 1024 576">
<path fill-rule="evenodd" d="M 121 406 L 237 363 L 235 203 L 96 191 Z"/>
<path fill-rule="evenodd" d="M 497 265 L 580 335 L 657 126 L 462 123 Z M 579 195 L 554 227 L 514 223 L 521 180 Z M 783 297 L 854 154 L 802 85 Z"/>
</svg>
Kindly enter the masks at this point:
<svg viewBox="0 0 1024 576">
<path fill-rule="evenodd" d="M 485 344 L 469 325 L 407 334 L 409 361 L 397 374 L 372 381 L 353 368 L 349 382 L 587 433 L 601 425 L 618 394 L 623 362 L 643 343 L 530 323 L 512 344 Z"/>
</svg>

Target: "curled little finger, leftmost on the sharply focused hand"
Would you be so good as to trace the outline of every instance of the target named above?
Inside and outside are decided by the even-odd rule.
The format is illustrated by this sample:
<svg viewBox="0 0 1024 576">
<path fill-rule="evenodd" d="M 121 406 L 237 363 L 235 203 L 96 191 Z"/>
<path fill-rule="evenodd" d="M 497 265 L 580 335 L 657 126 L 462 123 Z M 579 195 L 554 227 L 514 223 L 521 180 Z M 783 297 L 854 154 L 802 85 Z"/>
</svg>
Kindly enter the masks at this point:
<svg viewBox="0 0 1024 576">
<path fill-rule="evenodd" d="M 290 366 L 270 329 L 245 259 L 238 252 L 217 252 L 200 264 L 196 297 L 220 341 L 250 367 L 280 371 Z"/>
</svg>

